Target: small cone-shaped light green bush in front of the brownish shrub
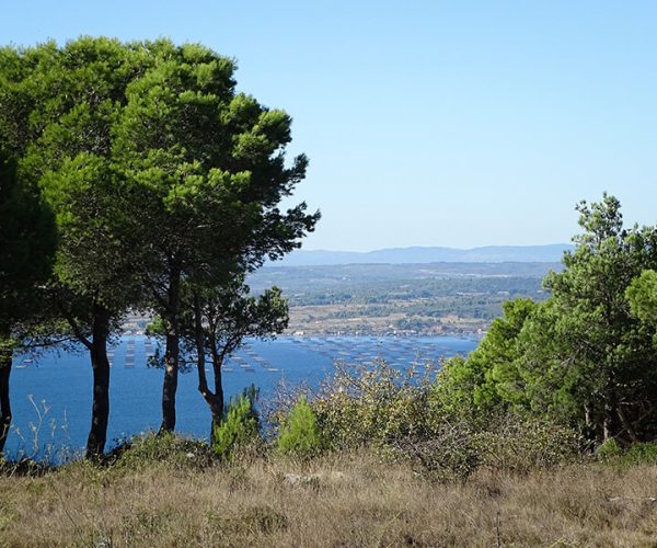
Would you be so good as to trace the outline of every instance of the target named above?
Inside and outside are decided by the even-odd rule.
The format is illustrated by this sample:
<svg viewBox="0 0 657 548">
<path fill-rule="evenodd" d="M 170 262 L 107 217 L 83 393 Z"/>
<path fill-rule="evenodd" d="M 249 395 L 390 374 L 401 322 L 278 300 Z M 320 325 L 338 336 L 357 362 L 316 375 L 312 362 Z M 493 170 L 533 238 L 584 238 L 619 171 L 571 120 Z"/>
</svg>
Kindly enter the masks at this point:
<svg viewBox="0 0 657 548">
<path fill-rule="evenodd" d="M 278 434 L 277 445 L 280 453 L 303 458 L 322 449 L 318 419 L 306 396 L 301 396 L 291 409 Z"/>
</svg>

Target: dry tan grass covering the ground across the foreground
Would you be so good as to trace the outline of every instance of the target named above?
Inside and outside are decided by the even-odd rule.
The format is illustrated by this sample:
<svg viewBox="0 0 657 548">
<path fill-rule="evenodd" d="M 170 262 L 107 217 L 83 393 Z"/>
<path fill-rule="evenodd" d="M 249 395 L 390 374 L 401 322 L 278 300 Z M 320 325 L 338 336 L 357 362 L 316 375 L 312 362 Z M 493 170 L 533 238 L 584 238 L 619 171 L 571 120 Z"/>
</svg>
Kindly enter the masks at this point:
<svg viewBox="0 0 657 548">
<path fill-rule="evenodd" d="M 0 545 L 657 546 L 656 495 L 648 466 L 433 484 L 370 455 L 201 471 L 78 463 L 0 478 Z"/>
</svg>

